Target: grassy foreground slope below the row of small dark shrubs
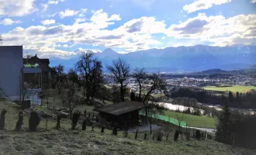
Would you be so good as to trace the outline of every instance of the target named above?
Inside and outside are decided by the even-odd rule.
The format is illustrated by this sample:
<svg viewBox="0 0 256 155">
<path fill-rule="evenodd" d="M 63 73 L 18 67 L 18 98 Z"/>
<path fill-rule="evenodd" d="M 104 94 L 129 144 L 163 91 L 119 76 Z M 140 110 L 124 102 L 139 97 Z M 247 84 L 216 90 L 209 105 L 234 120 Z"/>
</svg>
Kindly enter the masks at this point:
<svg viewBox="0 0 256 155">
<path fill-rule="evenodd" d="M 144 134 L 139 133 L 138 139 L 134 140 L 134 134 L 129 133 L 128 138 L 123 137 L 119 131 L 118 136 L 112 136 L 111 130 L 104 135 L 95 127 L 91 131 L 88 126 L 86 131 L 81 131 L 81 124 L 77 130 L 71 130 L 71 121 L 61 119 L 61 129 L 56 130 L 56 121 L 50 119 L 48 131 L 45 131 L 45 119 L 42 119 L 38 131 L 28 132 L 29 116 L 25 115 L 22 131 L 13 131 L 18 119 L 19 106 L 11 102 L 0 102 L 0 110 L 7 109 L 5 115 L 5 129 L 0 130 L 0 154 L 33 154 L 33 155 L 99 155 L 99 154 L 255 154 L 256 150 L 246 150 L 234 146 L 218 143 L 214 140 L 185 140 L 179 136 L 178 142 L 174 142 L 171 132 L 169 140 L 162 142 L 153 141 L 149 136 L 144 139 Z"/>
</svg>

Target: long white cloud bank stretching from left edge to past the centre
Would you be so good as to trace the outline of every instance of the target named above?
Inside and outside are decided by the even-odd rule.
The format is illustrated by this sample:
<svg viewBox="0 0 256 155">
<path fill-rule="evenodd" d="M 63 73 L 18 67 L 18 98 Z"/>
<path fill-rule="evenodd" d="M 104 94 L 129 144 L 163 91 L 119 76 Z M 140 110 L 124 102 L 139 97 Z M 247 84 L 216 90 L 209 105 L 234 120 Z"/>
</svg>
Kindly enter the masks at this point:
<svg viewBox="0 0 256 155">
<path fill-rule="evenodd" d="M 71 57 L 74 55 L 75 53 L 56 49 L 64 44 L 69 47 L 74 45 L 119 47 L 126 49 L 126 52 L 147 50 L 161 44 L 150 34 L 163 33 L 164 21 L 156 21 L 154 17 L 142 17 L 130 20 L 116 29 L 106 29 L 119 19 L 121 19 L 119 15 L 108 15 L 108 13 L 98 10 L 90 19 L 76 19 L 73 25 L 29 26 L 26 29 L 18 27 L 2 36 L 5 38 L 6 45 L 23 45 L 26 49 L 37 50 L 37 53 L 48 57 Z M 136 22 L 142 22 L 143 29 L 129 32 Z M 65 45 L 65 47 L 67 46 Z"/>
</svg>

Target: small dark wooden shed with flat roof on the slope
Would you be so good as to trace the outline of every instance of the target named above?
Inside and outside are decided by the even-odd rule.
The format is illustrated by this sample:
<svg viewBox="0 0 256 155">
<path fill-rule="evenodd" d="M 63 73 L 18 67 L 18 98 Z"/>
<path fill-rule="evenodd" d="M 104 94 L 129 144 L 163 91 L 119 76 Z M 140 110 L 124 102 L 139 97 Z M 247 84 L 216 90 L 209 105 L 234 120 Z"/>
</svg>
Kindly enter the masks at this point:
<svg viewBox="0 0 256 155">
<path fill-rule="evenodd" d="M 119 102 L 112 105 L 106 105 L 97 108 L 99 115 L 106 122 L 111 122 L 111 126 L 117 123 L 119 129 L 123 129 L 125 124 L 130 126 L 138 126 L 140 121 L 139 111 L 145 108 L 142 102 Z M 103 122 L 103 123 L 106 123 Z"/>
</svg>

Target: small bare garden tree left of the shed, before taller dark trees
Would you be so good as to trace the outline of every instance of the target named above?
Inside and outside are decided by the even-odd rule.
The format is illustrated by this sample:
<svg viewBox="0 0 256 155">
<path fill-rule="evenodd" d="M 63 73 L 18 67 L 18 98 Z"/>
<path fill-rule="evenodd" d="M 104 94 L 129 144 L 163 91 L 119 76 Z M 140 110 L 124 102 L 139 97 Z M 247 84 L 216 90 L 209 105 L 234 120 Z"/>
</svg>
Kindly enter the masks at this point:
<svg viewBox="0 0 256 155">
<path fill-rule="evenodd" d="M 64 108 L 68 108 L 70 112 L 70 118 L 72 118 L 72 112 L 78 105 L 78 84 L 73 81 L 67 81 L 67 89 L 62 88 L 61 90 L 61 102 Z"/>
</svg>

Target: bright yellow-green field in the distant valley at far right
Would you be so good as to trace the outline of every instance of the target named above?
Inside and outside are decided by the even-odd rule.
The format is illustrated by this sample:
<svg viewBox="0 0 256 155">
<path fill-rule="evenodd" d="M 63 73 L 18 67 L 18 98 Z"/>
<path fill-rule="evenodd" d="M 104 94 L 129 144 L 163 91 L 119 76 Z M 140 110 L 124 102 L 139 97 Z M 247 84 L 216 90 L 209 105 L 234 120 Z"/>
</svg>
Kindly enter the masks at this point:
<svg viewBox="0 0 256 155">
<path fill-rule="evenodd" d="M 209 91 L 233 91 L 233 92 L 241 92 L 245 93 L 246 91 L 250 91 L 251 89 L 256 89 L 254 86 L 244 86 L 244 85 L 234 85 L 233 87 L 204 87 L 204 89 Z"/>
</svg>

